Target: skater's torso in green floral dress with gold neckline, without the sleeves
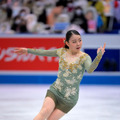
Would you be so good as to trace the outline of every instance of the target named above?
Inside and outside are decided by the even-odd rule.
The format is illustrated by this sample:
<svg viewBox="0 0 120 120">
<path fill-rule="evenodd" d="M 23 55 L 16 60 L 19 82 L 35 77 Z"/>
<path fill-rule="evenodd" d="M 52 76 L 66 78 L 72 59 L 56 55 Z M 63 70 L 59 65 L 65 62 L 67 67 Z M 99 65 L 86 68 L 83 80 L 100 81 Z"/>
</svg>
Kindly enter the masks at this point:
<svg viewBox="0 0 120 120">
<path fill-rule="evenodd" d="M 77 56 L 71 58 L 65 48 L 58 52 L 60 54 L 58 78 L 52 84 L 51 91 L 61 99 L 75 104 L 78 100 L 79 84 L 84 73 L 86 53 L 80 51 Z"/>
</svg>

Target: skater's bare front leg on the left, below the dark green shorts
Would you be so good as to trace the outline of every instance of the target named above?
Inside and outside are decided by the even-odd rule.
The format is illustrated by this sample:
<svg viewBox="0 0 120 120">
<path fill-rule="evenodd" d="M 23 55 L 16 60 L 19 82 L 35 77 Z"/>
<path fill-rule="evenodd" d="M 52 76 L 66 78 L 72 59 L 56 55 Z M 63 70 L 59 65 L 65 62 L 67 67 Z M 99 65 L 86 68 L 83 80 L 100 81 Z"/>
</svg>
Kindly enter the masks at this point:
<svg viewBox="0 0 120 120">
<path fill-rule="evenodd" d="M 43 103 L 42 109 L 38 113 L 38 115 L 34 118 L 34 120 L 45 120 L 50 114 L 53 112 L 55 108 L 55 103 L 52 98 L 46 97 Z"/>
</svg>

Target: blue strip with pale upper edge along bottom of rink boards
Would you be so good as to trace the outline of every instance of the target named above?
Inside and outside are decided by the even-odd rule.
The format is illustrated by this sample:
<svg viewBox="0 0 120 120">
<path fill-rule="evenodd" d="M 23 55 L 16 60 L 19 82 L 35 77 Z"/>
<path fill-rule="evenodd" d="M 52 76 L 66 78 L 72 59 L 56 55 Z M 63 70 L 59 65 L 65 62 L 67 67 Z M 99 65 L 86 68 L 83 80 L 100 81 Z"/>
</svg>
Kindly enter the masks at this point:
<svg viewBox="0 0 120 120">
<path fill-rule="evenodd" d="M 0 73 L 0 84 L 52 84 L 57 72 L 7 72 Z M 120 85 L 119 72 L 86 73 L 81 84 L 88 85 Z"/>
</svg>

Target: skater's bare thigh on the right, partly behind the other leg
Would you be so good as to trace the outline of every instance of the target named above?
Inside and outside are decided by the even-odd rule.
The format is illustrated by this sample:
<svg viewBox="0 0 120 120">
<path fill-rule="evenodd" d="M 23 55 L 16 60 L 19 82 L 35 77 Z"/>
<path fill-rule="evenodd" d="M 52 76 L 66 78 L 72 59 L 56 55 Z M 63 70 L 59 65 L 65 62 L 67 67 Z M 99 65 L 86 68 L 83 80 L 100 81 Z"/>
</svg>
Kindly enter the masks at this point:
<svg viewBox="0 0 120 120">
<path fill-rule="evenodd" d="M 64 115 L 65 115 L 64 112 L 62 112 L 59 109 L 55 109 L 47 120 L 59 120 Z"/>
</svg>

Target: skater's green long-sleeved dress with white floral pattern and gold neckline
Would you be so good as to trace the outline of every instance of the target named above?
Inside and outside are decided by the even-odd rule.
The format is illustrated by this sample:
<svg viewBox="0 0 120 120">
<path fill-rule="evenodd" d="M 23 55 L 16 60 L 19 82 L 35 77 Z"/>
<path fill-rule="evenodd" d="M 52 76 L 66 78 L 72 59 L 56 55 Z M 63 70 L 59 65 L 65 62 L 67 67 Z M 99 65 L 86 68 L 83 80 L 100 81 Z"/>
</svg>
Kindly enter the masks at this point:
<svg viewBox="0 0 120 120">
<path fill-rule="evenodd" d="M 28 53 L 31 54 L 59 57 L 58 77 L 50 86 L 50 91 L 68 104 L 75 105 L 78 101 L 79 85 L 85 70 L 92 73 L 97 68 L 102 58 L 102 52 L 97 54 L 93 62 L 88 54 L 83 53 L 72 63 L 66 61 L 66 52 L 66 48 L 55 50 L 28 49 Z"/>
</svg>

